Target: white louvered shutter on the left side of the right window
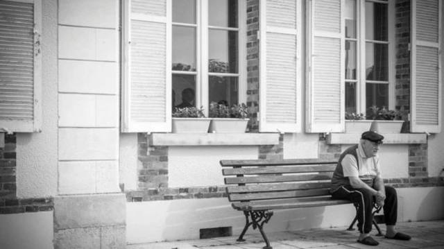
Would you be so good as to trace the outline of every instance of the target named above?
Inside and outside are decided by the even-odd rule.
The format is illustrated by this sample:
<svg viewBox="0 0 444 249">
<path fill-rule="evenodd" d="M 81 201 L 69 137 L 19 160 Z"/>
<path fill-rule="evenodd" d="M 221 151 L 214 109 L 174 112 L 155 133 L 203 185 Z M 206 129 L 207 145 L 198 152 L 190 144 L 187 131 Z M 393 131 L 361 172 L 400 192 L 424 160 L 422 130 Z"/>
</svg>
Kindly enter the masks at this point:
<svg viewBox="0 0 444 249">
<path fill-rule="evenodd" d="M 343 132 L 344 1 L 311 0 L 307 8 L 307 132 Z"/>
</svg>

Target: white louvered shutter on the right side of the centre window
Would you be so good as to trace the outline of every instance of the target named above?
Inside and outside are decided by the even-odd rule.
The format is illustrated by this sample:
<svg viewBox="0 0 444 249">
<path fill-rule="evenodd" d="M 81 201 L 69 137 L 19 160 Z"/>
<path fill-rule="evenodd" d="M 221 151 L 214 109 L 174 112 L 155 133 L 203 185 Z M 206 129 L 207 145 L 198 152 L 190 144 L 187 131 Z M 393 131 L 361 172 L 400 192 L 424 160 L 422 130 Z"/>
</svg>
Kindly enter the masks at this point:
<svg viewBox="0 0 444 249">
<path fill-rule="evenodd" d="M 301 1 L 264 0 L 260 6 L 260 132 L 300 132 Z"/>
</svg>

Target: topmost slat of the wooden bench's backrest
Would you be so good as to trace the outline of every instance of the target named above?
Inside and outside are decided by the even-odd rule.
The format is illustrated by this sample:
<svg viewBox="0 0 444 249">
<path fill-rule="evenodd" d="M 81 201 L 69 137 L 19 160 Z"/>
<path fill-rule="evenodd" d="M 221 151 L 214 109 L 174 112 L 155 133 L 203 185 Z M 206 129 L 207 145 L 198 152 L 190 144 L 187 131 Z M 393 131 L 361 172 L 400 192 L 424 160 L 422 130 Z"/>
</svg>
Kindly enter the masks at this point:
<svg viewBox="0 0 444 249">
<path fill-rule="evenodd" d="M 284 160 L 221 160 L 221 166 L 282 166 L 282 165 L 308 165 L 308 164 L 336 164 L 337 159 L 284 159 Z"/>
</svg>

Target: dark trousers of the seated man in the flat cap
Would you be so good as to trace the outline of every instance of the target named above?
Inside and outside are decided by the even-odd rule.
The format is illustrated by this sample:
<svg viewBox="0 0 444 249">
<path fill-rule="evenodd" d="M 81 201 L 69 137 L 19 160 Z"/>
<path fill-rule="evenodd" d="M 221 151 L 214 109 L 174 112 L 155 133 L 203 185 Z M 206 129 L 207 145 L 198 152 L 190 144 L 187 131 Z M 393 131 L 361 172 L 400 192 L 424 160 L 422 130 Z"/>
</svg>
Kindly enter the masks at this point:
<svg viewBox="0 0 444 249">
<path fill-rule="evenodd" d="M 398 218 L 398 196 L 393 187 L 385 186 L 386 199 L 384 200 L 384 218 L 386 225 L 395 225 Z M 359 232 L 368 234 L 373 225 L 373 203 L 375 196 L 372 196 L 368 189 L 353 189 L 351 186 L 343 186 L 332 193 L 332 198 L 350 200 L 358 204 L 358 229 Z"/>
</svg>

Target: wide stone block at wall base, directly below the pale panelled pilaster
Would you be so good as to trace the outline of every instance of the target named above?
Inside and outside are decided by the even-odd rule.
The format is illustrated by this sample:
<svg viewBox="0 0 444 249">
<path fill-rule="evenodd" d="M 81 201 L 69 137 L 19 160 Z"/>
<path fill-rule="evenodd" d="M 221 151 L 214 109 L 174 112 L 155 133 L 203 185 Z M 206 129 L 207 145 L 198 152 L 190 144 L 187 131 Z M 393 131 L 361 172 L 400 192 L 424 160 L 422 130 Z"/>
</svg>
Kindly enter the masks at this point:
<svg viewBox="0 0 444 249">
<path fill-rule="evenodd" d="M 125 194 L 54 198 L 54 228 L 56 230 L 111 225 L 126 225 Z"/>
</svg>

